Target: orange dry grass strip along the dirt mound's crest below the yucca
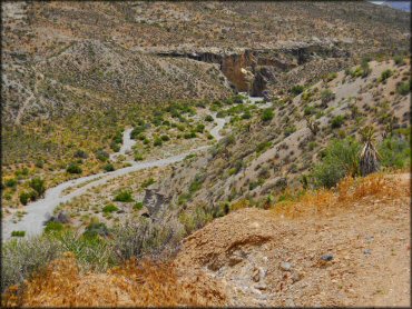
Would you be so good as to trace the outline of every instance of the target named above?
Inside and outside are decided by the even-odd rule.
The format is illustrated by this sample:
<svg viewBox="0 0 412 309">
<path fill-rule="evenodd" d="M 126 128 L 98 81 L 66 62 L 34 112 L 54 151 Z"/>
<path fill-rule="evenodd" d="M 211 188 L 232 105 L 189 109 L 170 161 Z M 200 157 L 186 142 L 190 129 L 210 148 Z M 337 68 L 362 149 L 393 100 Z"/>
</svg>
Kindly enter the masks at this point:
<svg viewBox="0 0 412 309">
<path fill-rule="evenodd" d="M 364 198 L 394 199 L 408 196 L 409 186 L 400 186 L 399 181 L 383 173 L 373 173 L 357 179 L 346 177 L 335 190 L 307 191 L 297 200 L 275 205 L 273 212 L 291 218 L 327 215 L 333 210 L 353 207 Z"/>
</svg>

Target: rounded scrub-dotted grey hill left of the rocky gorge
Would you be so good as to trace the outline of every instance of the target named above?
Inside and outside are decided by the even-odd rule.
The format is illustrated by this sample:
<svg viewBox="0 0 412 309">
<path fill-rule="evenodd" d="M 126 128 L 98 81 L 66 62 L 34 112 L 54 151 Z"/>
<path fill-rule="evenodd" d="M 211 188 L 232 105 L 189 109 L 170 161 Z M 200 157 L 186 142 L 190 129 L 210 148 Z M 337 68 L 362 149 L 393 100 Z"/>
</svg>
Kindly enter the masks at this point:
<svg viewBox="0 0 412 309">
<path fill-rule="evenodd" d="M 7 66 L 3 91 L 9 102 L 3 108 L 6 124 L 230 93 L 216 66 L 139 54 L 89 40 L 32 67 Z"/>
</svg>

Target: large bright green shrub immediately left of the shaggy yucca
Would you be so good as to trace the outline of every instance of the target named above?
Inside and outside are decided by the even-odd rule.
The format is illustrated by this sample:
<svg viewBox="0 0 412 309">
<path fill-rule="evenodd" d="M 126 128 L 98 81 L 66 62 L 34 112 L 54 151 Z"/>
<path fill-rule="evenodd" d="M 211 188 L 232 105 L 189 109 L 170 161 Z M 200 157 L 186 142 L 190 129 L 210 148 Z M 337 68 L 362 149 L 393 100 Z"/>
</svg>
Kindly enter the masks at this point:
<svg viewBox="0 0 412 309">
<path fill-rule="evenodd" d="M 360 150 L 361 146 L 353 138 L 333 140 L 311 173 L 313 185 L 332 188 L 345 176 L 357 175 Z"/>
</svg>

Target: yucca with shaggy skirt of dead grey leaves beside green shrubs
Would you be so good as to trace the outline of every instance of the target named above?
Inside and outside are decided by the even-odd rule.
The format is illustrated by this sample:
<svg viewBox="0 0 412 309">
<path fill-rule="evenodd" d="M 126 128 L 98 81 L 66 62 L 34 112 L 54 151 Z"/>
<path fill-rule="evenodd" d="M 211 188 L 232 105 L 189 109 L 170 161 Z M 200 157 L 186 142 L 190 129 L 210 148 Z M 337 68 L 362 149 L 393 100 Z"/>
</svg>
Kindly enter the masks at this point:
<svg viewBox="0 0 412 309">
<path fill-rule="evenodd" d="M 373 144 L 375 141 L 374 133 L 374 128 L 371 126 L 365 127 L 361 131 L 362 141 L 364 142 L 360 158 L 360 170 L 362 176 L 376 172 L 380 169 L 379 160 L 381 156 Z"/>
</svg>

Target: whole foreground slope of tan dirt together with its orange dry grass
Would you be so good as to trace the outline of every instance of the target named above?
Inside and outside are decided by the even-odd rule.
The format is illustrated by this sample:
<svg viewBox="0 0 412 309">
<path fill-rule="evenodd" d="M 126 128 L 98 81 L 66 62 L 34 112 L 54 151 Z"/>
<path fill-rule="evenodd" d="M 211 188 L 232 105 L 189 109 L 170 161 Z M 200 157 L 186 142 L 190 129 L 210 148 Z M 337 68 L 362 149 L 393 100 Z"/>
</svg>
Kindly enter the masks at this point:
<svg viewBox="0 0 412 309">
<path fill-rule="evenodd" d="M 237 210 L 186 238 L 173 263 L 81 273 L 66 255 L 4 305 L 408 307 L 409 182 L 372 175 L 339 192 Z"/>
</svg>

